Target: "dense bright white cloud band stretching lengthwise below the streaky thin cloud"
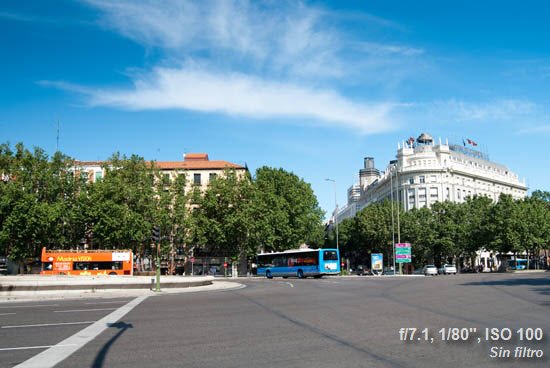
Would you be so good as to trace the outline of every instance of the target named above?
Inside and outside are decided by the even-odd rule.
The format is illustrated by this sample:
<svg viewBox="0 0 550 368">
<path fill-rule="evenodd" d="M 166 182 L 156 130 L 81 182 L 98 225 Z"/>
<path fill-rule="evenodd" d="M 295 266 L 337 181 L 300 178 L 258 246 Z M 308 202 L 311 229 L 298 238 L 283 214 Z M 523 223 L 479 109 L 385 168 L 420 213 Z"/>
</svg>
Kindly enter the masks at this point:
<svg viewBox="0 0 550 368">
<path fill-rule="evenodd" d="M 49 82 L 53 84 L 55 82 Z M 57 87 L 64 88 L 63 85 Z M 76 90 L 75 86 L 67 86 Z M 137 78 L 133 89 L 82 90 L 91 105 L 131 110 L 186 109 L 255 118 L 302 117 L 375 133 L 391 129 L 390 103 L 350 101 L 316 90 L 245 74 L 217 74 L 186 67 L 157 68 Z"/>
</svg>

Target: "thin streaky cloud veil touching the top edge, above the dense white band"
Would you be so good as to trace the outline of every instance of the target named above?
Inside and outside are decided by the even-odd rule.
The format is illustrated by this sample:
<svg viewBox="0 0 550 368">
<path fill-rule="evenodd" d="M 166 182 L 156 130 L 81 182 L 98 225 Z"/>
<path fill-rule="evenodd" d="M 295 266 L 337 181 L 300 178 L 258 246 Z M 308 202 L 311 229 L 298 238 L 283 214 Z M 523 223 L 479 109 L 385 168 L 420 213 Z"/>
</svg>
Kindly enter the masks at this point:
<svg viewBox="0 0 550 368">
<path fill-rule="evenodd" d="M 100 24 L 172 57 L 206 57 L 233 69 L 338 74 L 338 32 L 300 2 L 85 0 Z"/>
</svg>

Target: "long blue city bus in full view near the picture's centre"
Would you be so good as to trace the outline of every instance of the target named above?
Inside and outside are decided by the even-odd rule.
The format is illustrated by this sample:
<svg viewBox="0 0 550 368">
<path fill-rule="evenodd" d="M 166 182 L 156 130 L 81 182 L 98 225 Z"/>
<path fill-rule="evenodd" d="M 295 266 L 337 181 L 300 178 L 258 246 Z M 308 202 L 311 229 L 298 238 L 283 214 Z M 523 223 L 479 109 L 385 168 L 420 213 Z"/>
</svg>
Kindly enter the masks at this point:
<svg viewBox="0 0 550 368">
<path fill-rule="evenodd" d="M 303 279 L 340 273 L 338 249 L 292 249 L 277 253 L 261 253 L 256 256 L 258 275 L 267 277 L 296 276 Z"/>
</svg>

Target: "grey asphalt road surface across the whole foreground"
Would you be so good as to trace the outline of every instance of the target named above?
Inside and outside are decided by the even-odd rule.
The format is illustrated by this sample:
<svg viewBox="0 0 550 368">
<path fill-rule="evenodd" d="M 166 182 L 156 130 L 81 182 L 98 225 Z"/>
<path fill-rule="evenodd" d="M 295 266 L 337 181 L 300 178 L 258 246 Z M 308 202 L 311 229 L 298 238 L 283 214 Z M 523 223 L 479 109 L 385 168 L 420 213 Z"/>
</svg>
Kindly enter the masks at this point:
<svg viewBox="0 0 550 368">
<path fill-rule="evenodd" d="M 246 287 L 149 297 L 58 366 L 543 367 L 550 362 L 549 273 L 239 282 Z M 57 344 L 130 300 L 0 304 L 0 366 L 25 361 L 45 350 L 28 347 Z M 73 322 L 82 324 L 53 325 Z M 44 323 L 52 325 L 4 328 Z M 414 336 L 410 328 L 417 328 Z M 537 328 L 544 334 L 541 341 L 530 333 L 536 335 Z M 516 358 L 518 346 L 543 356 Z M 499 356 L 507 351 L 510 357 Z"/>
</svg>

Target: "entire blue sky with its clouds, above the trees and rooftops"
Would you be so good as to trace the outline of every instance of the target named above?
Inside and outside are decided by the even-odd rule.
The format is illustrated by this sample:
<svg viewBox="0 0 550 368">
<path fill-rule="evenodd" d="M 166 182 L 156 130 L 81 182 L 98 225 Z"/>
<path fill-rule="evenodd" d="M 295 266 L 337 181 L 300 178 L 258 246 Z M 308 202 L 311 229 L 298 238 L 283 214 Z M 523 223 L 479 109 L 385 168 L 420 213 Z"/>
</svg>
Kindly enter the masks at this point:
<svg viewBox="0 0 550 368">
<path fill-rule="evenodd" d="M 321 207 L 428 132 L 550 190 L 545 1 L 11 1 L 0 141 L 283 167 Z"/>
</svg>

